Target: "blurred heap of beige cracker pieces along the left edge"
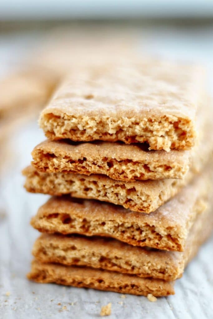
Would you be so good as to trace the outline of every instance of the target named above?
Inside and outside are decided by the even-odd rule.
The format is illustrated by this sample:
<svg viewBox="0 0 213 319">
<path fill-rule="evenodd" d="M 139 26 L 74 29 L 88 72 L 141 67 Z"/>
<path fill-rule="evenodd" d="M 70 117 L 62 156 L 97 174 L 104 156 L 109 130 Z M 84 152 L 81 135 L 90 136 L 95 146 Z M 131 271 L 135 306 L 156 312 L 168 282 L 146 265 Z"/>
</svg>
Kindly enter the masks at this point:
<svg viewBox="0 0 213 319">
<path fill-rule="evenodd" d="M 46 70 L 17 70 L 0 81 L 0 171 L 14 159 L 10 138 L 33 118 L 52 94 L 59 79 Z"/>
</svg>

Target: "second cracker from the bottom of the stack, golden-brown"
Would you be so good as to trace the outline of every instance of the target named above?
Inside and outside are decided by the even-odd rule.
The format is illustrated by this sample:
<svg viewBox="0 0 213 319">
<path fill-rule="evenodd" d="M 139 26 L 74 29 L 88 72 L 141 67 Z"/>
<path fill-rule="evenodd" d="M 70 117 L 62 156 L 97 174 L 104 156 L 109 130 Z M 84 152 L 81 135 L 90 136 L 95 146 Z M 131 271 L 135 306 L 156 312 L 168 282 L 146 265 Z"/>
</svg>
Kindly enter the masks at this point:
<svg viewBox="0 0 213 319">
<path fill-rule="evenodd" d="M 110 238 L 42 234 L 34 243 L 33 255 L 41 263 L 102 268 L 171 281 L 182 276 L 187 263 L 209 237 L 212 228 L 210 207 L 198 215 L 184 252 L 134 247 Z"/>
</svg>

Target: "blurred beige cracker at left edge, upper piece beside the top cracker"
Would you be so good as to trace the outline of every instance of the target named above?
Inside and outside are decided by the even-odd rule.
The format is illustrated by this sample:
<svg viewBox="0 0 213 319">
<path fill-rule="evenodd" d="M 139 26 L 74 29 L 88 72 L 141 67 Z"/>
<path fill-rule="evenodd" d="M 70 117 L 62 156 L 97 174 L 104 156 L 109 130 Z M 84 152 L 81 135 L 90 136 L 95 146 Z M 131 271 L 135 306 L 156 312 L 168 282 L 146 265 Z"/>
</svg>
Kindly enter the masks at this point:
<svg viewBox="0 0 213 319">
<path fill-rule="evenodd" d="M 46 70 L 21 70 L 0 82 L 0 119 L 20 117 L 29 109 L 37 115 L 53 92 L 58 78 Z M 10 121 L 9 121 L 10 122 Z"/>
</svg>

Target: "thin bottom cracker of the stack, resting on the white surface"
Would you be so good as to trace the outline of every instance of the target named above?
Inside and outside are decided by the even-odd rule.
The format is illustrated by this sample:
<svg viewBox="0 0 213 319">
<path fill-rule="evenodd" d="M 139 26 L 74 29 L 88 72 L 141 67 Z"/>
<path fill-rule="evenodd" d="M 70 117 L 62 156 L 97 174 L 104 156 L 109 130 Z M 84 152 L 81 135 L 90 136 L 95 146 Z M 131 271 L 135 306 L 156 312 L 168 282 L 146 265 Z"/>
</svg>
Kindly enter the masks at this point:
<svg viewBox="0 0 213 319">
<path fill-rule="evenodd" d="M 33 261 L 27 277 L 39 283 L 57 283 L 134 295 L 147 296 L 148 293 L 152 293 L 153 296 L 160 297 L 174 294 L 174 282 L 170 281 L 38 261 Z"/>
</svg>

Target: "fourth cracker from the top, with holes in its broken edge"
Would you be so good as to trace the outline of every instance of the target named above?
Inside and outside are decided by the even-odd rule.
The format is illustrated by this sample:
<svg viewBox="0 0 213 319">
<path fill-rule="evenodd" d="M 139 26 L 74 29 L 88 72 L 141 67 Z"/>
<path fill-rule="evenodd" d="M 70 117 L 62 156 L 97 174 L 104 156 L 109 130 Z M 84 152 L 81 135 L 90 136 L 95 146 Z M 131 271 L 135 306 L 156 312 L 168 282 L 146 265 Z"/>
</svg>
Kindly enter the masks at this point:
<svg viewBox="0 0 213 319">
<path fill-rule="evenodd" d="M 207 209 L 211 179 L 209 167 L 151 214 L 94 200 L 52 197 L 39 208 L 31 225 L 43 233 L 113 237 L 133 246 L 183 251 L 196 217 Z"/>
</svg>

